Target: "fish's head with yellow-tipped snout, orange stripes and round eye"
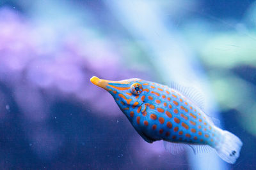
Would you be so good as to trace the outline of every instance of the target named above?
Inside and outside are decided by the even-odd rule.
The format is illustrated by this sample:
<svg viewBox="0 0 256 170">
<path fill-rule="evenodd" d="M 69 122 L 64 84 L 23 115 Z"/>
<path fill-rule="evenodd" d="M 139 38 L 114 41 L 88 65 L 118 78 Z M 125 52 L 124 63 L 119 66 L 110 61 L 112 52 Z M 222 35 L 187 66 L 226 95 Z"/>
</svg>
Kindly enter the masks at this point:
<svg viewBox="0 0 256 170">
<path fill-rule="evenodd" d="M 144 88 L 145 84 L 148 85 L 147 81 L 139 78 L 109 81 L 93 76 L 91 81 L 94 85 L 107 90 L 114 97 L 116 104 L 118 104 L 123 112 L 125 110 L 131 111 L 132 108 L 136 110 L 136 108 L 140 107 L 149 91 L 147 87 Z"/>
</svg>

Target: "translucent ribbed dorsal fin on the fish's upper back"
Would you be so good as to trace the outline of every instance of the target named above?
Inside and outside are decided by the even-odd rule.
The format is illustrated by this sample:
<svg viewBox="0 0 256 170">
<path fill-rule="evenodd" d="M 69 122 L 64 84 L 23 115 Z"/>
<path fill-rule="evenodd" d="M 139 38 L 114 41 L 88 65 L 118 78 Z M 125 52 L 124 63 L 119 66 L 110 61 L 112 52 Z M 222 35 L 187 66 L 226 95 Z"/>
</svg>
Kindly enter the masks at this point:
<svg viewBox="0 0 256 170">
<path fill-rule="evenodd" d="M 188 97 L 193 103 L 195 103 L 199 108 L 204 109 L 204 97 L 197 92 L 197 90 L 193 87 L 183 87 L 178 83 L 172 82 L 170 87 L 174 90 L 177 90 L 182 95 Z"/>
</svg>

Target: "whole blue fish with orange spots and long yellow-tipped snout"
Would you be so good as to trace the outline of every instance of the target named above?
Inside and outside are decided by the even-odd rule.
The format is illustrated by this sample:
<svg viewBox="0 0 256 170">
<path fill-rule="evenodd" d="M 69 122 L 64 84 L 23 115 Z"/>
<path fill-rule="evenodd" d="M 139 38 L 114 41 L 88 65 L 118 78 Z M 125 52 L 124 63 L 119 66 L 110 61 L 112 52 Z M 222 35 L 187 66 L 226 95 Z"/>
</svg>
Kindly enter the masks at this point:
<svg viewBox="0 0 256 170">
<path fill-rule="evenodd" d="M 193 89 L 177 83 L 168 87 L 140 78 L 109 81 L 93 76 L 90 81 L 113 96 L 134 129 L 148 143 L 163 140 L 164 148 L 173 154 L 186 147 L 194 153 L 214 149 L 230 164 L 239 157 L 242 141 L 214 125 L 203 111 L 202 97 Z"/>
</svg>

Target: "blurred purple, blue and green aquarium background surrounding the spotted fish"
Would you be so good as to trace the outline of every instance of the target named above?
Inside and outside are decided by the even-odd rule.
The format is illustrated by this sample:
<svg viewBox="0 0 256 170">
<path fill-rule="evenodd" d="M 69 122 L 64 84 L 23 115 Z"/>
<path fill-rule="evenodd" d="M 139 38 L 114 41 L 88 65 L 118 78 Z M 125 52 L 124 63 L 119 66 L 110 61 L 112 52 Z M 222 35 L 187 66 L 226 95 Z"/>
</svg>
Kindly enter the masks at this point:
<svg viewBox="0 0 256 170">
<path fill-rule="evenodd" d="M 256 169 L 255 31 L 252 0 L 0 0 L 0 169 Z M 239 159 L 146 143 L 92 76 L 200 89 Z"/>
</svg>

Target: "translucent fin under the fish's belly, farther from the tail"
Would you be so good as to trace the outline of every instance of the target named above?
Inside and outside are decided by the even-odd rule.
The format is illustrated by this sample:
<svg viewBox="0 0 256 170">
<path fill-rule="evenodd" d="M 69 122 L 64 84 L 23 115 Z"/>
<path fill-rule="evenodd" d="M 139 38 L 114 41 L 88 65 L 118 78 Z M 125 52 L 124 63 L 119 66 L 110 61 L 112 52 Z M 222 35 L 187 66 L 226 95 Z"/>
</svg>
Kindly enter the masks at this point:
<svg viewBox="0 0 256 170">
<path fill-rule="evenodd" d="M 188 148 L 188 145 L 184 143 L 172 143 L 168 141 L 163 141 L 163 144 L 164 148 L 173 155 L 177 155 L 183 152 L 186 148 Z"/>
</svg>

